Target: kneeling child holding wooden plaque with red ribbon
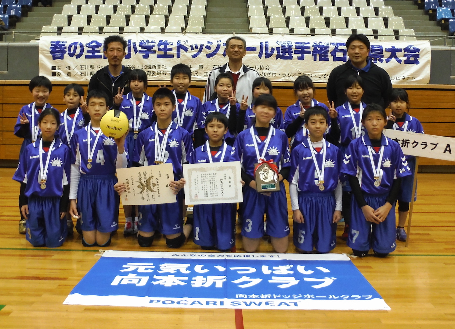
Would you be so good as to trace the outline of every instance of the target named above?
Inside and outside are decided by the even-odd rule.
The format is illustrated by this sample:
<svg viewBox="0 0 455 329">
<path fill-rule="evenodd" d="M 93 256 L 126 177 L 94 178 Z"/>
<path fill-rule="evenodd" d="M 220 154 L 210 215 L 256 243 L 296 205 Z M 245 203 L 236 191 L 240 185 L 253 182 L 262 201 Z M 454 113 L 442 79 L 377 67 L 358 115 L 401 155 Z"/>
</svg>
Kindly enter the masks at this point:
<svg viewBox="0 0 455 329">
<path fill-rule="evenodd" d="M 288 202 L 283 179 L 288 177 L 291 164 L 288 137 L 270 124 L 276 109 L 272 95 L 260 95 L 253 106 L 255 124 L 238 134 L 233 146 L 233 161 L 241 161 L 245 182 L 242 235 L 246 252 L 259 247 L 264 214 L 265 234 L 270 235 L 273 248 L 279 253 L 288 249 Z"/>
</svg>

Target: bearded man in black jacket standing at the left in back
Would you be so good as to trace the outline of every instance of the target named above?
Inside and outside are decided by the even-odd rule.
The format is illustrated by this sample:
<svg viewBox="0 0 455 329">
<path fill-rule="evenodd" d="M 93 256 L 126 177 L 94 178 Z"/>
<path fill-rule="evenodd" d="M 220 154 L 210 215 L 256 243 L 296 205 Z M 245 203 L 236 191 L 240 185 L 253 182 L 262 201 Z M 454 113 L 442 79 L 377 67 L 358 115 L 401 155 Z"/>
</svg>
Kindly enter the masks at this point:
<svg viewBox="0 0 455 329">
<path fill-rule="evenodd" d="M 109 107 L 118 109 L 122 98 L 121 95 L 129 93 L 128 84 L 130 69 L 121 65 L 126 53 L 126 40 L 120 35 L 111 35 L 104 39 L 104 55 L 109 65 L 98 70 L 90 79 L 88 90 L 103 90 L 108 96 Z"/>
</svg>

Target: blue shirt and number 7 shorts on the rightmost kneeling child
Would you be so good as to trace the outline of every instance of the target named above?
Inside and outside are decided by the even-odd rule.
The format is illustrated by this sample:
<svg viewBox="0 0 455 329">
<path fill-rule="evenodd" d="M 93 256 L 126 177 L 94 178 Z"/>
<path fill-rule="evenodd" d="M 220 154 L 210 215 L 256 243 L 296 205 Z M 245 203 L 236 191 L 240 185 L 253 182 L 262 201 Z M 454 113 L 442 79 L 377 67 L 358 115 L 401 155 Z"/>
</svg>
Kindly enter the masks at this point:
<svg viewBox="0 0 455 329">
<path fill-rule="evenodd" d="M 399 144 L 384 135 L 381 136 L 381 147 L 377 152 L 371 146 L 368 134 L 353 140 L 346 150 L 343 162 L 341 172 L 359 179 L 364 199 L 373 209 L 385 204 L 394 179 L 411 174 Z M 394 204 L 384 222 L 374 224 L 366 221 L 362 209 L 353 197 L 348 246 L 356 250 L 373 248 L 383 254 L 394 251 L 396 231 L 393 209 Z"/>
</svg>

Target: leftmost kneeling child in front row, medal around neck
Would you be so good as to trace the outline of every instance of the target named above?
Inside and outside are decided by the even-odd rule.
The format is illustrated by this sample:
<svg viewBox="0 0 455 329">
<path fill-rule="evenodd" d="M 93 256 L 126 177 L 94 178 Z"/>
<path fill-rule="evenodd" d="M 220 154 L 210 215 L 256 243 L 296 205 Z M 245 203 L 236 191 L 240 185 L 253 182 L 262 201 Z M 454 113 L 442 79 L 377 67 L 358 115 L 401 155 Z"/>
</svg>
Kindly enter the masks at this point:
<svg viewBox="0 0 455 329">
<path fill-rule="evenodd" d="M 46 108 L 38 117 L 41 138 L 27 145 L 13 176 L 20 182 L 25 238 L 35 247 L 59 247 L 66 238 L 70 151 L 56 135 L 60 114 Z"/>
</svg>

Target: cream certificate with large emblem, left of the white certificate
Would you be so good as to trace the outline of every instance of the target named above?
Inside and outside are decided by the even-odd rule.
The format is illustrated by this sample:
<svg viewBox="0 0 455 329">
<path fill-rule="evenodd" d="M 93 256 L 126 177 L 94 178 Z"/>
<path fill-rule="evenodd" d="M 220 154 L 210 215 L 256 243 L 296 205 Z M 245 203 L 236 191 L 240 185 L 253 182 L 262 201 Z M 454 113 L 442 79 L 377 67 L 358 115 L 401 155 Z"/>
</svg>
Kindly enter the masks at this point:
<svg viewBox="0 0 455 329">
<path fill-rule="evenodd" d="M 176 196 L 169 188 L 174 180 L 172 164 L 117 169 L 119 182 L 125 184 L 121 194 L 123 205 L 164 204 L 176 202 Z"/>
</svg>

